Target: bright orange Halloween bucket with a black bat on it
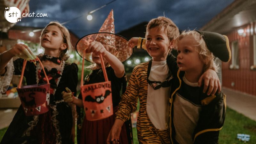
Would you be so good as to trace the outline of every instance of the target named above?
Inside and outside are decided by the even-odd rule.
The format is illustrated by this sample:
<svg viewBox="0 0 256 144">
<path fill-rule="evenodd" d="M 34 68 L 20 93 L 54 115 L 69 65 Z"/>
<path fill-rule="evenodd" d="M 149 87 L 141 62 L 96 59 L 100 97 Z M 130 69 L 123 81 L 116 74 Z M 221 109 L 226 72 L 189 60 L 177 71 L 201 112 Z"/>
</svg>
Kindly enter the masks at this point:
<svg viewBox="0 0 256 144">
<path fill-rule="evenodd" d="M 106 82 L 83 85 L 85 50 L 83 51 L 81 94 L 86 119 L 88 121 L 95 121 L 113 115 L 111 82 L 108 81 L 106 68 L 100 54 L 101 67 Z"/>
</svg>

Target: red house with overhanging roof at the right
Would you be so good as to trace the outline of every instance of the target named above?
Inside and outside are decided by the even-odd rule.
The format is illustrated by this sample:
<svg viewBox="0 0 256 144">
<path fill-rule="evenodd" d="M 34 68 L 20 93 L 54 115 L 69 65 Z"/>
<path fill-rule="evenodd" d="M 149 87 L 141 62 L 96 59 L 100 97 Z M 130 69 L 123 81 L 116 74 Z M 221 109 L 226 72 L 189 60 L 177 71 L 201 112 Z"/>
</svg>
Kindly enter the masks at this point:
<svg viewBox="0 0 256 144">
<path fill-rule="evenodd" d="M 201 30 L 228 36 L 232 58 L 222 62 L 222 86 L 256 96 L 256 1 L 235 0 Z"/>
</svg>

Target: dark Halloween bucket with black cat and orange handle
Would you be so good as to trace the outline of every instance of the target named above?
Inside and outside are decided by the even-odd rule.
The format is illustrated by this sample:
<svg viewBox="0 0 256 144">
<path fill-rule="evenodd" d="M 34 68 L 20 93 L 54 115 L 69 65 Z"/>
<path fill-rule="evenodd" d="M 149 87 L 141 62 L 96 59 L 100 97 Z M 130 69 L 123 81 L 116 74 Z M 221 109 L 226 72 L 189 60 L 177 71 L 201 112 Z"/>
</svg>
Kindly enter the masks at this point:
<svg viewBox="0 0 256 144">
<path fill-rule="evenodd" d="M 42 62 L 38 59 L 38 57 L 36 58 L 44 71 Z M 34 116 L 46 113 L 49 110 L 50 102 L 50 83 L 48 77 L 46 76 L 46 73 L 44 71 L 47 84 L 34 84 L 20 87 L 26 64 L 27 60 L 24 60 L 21 71 L 20 83 L 17 88 L 17 92 L 19 94 L 21 105 L 24 109 L 25 115 Z"/>
</svg>

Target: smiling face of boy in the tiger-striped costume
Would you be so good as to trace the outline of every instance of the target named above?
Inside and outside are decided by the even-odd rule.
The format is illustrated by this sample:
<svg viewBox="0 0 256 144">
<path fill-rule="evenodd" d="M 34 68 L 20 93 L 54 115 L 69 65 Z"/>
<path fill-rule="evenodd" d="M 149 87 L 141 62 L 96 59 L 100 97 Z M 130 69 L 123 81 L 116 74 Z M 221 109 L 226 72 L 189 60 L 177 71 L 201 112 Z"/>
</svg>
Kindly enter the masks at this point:
<svg viewBox="0 0 256 144">
<path fill-rule="evenodd" d="M 164 33 L 164 28 L 160 30 L 157 27 L 149 29 L 146 38 L 147 52 L 152 57 L 152 60 L 166 60 L 171 49 L 171 43 L 168 36 Z"/>
</svg>

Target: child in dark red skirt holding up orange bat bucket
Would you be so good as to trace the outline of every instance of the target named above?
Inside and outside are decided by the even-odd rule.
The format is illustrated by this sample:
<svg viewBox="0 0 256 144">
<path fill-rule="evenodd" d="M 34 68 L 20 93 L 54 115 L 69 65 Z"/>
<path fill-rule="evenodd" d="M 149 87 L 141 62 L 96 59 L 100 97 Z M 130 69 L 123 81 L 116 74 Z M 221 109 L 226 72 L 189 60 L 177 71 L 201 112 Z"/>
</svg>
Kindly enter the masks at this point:
<svg viewBox="0 0 256 144">
<path fill-rule="evenodd" d="M 83 124 L 80 125 L 81 128 L 78 128 L 80 132 L 78 140 L 81 144 L 101 144 L 106 142 L 108 132 L 114 124 L 115 112 L 117 111 L 117 105 L 121 97 L 120 91 L 126 88 L 124 65 L 116 58 L 116 48 L 112 45 L 104 44 L 103 41 L 102 43 L 94 41 L 86 50 L 86 53 L 92 52 L 92 61 L 96 64 L 96 67 L 93 68 L 92 73 L 85 77 L 84 84 L 94 84 L 105 81 L 99 56 L 99 54 L 102 54 L 108 79 L 111 81 L 114 115 L 97 121 L 88 121 L 86 117 L 84 117 Z M 72 92 L 68 90 L 67 93 L 63 92 L 63 99 L 65 102 L 71 102 L 84 109 L 81 94 L 78 98 L 74 98 Z M 79 116 L 79 118 L 82 118 L 82 116 Z M 130 133 L 130 129 L 129 127 L 127 128 L 128 129 L 126 129 L 125 125 L 123 126 L 123 131 L 120 136 L 120 141 L 124 144 L 129 144 L 132 141 L 130 134 L 127 134 Z"/>
</svg>

